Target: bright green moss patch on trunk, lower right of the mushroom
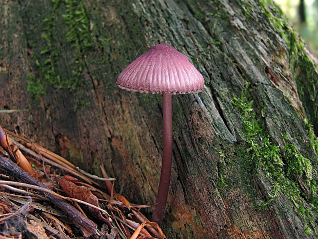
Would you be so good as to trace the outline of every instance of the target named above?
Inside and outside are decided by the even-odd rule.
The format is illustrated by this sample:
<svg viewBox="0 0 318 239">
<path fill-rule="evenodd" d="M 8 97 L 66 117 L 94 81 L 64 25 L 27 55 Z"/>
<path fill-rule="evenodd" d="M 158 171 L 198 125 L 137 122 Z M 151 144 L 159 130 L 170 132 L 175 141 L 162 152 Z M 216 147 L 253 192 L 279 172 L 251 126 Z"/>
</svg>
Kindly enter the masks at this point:
<svg viewBox="0 0 318 239">
<path fill-rule="evenodd" d="M 274 145 L 270 141 L 270 136 L 260 125 L 253 111 L 252 100 L 248 100 L 249 85 L 242 91 L 241 97 L 233 97 L 233 105 L 241 112 L 240 118 L 243 123 L 245 133 L 246 148 L 241 150 L 238 156 L 242 159 L 244 167 L 256 177 L 259 172 L 264 172 L 267 181 L 271 184 L 271 192 L 268 193 L 267 201 L 257 199 L 255 208 L 268 209 L 272 201 L 284 194 L 291 200 L 299 210 L 303 218 L 305 233 L 311 234 L 312 230 L 308 226 L 312 212 L 308 209 L 308 203 L 318 205 L 312 201 L 306 201 L 306 193 L 303 191 L 305 184 L 310 188 L 312 196 L 316 193 L 316 182 L 312 180 L 312 166 L 309 159 L 305 158 L 294 144 L 286 143 L 281 149 L 279 145 Z M 310 133 L 312 134 L 312 133 Z M 284 155 L 284 157 L 283 157 Z M 282 159 L 286 163 L 283 163 Z M 300 179 L 305 178 L 305 184 L 300 186 Z M 318 203 L 318 200 L 316 200 Z"/>
</svg>

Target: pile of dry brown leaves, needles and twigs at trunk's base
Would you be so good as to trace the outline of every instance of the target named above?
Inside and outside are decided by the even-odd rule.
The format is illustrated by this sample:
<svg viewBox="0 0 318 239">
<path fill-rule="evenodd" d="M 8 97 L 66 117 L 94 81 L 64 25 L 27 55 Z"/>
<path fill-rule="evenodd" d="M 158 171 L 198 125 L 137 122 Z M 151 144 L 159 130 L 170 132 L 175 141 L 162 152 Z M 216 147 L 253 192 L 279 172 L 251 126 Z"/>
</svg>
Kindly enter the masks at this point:
<svg viewBox="0 0 318 239">
<path fill-rule="evenodd" d="M 0 237 L 164 239 L 161 228 L 103 177 L 0 125 Z"/>
</svg>

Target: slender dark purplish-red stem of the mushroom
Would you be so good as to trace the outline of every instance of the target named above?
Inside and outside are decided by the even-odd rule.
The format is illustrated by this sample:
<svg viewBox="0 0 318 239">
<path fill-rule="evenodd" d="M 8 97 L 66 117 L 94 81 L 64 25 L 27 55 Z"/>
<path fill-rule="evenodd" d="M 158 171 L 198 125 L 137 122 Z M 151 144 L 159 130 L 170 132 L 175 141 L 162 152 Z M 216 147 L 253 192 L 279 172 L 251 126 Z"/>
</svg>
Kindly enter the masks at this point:
<svg viewBox="0 0 318 239">
<path fill-rule="evenodd" d="M 151 221 L 159 226 L 166 210 L 172 164 L 172 95 L 163 94 L 164 150 L 156 206 Z"/>
</svg>

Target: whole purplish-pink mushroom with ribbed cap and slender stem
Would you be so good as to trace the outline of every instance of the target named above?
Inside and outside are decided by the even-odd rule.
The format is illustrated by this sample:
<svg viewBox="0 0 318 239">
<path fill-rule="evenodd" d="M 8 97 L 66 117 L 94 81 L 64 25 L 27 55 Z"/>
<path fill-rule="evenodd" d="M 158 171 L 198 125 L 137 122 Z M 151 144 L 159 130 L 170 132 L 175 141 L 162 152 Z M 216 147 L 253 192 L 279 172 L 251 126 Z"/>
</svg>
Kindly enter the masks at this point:
<svg viewBox="0 0 318 239">
<path fill-rule="evenodd" d="M 196 93 L 204 79 L 188 57 L 162 43 L 130 63 L 117 79 L 117 86 L 141 93 L 163 94 L 164 147 L 162 168 L 152 222 L 161 225 L 166 209 L 172 163 L 172 95 Z"/>
</svg>

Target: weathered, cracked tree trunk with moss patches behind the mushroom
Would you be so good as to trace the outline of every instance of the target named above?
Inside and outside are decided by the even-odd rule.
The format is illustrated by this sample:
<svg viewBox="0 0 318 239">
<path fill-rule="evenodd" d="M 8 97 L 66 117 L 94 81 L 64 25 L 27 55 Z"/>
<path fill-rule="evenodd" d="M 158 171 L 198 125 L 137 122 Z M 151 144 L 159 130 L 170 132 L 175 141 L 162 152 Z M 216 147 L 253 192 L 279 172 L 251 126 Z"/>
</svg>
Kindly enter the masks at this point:
<svg viewBox="0 0 318 239">
<path fill-rule="evenodd" d="M 29 109 L 5 128 L 154 204 L 162 96 L 115 82 L 168 43 L 205 78 L 172 97 L 168 238 L 315 238 L 318 64 L 274 3 L 0 0 L 0 16 L 0 108 Z"/>
</svg>

